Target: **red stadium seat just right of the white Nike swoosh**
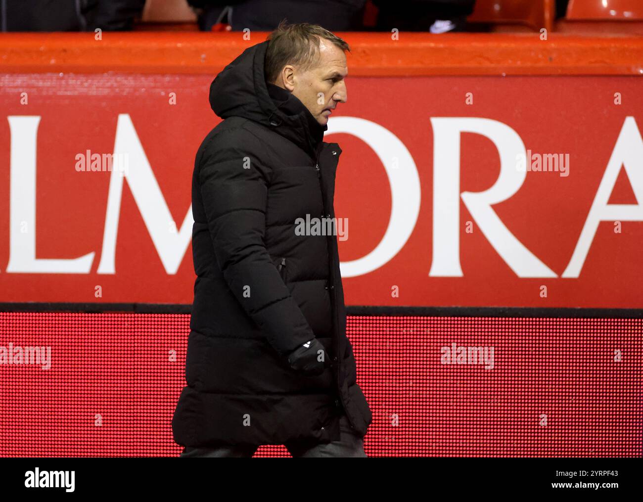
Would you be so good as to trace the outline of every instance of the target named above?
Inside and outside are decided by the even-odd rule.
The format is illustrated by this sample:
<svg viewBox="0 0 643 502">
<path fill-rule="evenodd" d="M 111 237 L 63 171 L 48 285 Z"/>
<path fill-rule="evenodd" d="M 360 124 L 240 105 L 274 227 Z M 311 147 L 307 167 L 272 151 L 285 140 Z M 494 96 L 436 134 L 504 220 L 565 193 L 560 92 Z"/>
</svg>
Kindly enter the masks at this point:
<svg viewBox="0 0 643 502">
<path fill-rule="evenodd" d="M 551 31 L 556 17 L 555 0 L 478 0 L 468 22 L 525 24 Z"/>
</svg>

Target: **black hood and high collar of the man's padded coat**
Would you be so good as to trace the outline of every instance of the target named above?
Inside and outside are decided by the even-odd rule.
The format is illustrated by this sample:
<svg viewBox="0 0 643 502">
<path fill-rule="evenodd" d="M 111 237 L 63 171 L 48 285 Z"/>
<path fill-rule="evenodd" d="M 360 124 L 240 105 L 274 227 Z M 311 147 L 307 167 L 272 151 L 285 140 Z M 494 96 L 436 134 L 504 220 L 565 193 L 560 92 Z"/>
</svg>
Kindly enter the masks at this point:
<svg viewBox="0 0 643 502">
<path fill-rule="evenodd" d="M 269 40 L 244 50 L 210 84 L 210 106 L 217 116 L 261 123 L 316 157 L 327 125 L 321 125 L 292 93 L 267 84 L 264 60 Z"/>
</svg>

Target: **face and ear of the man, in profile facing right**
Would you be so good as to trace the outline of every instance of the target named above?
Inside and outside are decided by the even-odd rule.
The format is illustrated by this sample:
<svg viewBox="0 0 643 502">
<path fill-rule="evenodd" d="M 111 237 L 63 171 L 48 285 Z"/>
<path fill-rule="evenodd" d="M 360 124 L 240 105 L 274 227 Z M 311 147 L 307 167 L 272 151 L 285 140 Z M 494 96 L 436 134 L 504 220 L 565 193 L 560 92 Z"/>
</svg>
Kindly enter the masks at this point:
<svg viewBox="0 0 643 502">
<path fill-rule="evenodd" d="M 346 55 L 330 40 L 320 39 L 320 54 L 316 66 L 306 71 L 287 65 L 277 78 L 276 85 L 291 91 L 321 125 L 328 122 L 337 103 L 347 100 L 344 77 L 349 73 Z"/>
</svg>

